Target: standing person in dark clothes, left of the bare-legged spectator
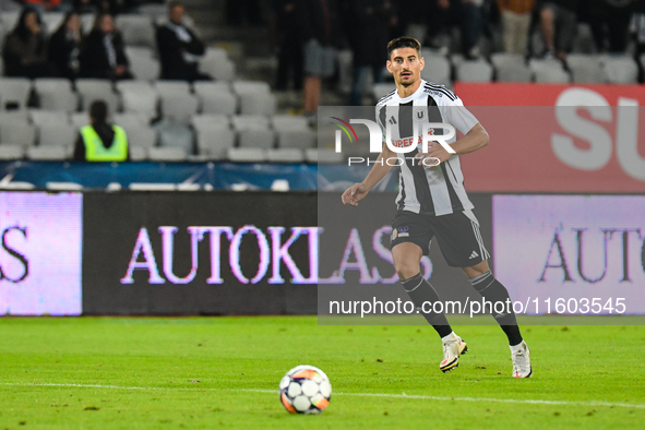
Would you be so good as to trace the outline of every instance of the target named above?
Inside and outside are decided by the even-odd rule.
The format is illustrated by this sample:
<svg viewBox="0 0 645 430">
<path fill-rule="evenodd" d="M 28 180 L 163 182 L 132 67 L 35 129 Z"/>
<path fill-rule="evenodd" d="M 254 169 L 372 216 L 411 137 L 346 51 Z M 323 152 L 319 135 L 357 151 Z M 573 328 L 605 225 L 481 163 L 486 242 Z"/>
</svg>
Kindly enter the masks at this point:
<svg viewBox="0 0 645 430">
<path fill-rule="evenodd" d="M 302 45 L 302 14 L 304 9 L 298 0 L 274 0 L 272 35 L 277 50 L 275 89 L 285 91 L 292 79 L 294 89 L 302 89 L 304 57 Z"/>
</svg>

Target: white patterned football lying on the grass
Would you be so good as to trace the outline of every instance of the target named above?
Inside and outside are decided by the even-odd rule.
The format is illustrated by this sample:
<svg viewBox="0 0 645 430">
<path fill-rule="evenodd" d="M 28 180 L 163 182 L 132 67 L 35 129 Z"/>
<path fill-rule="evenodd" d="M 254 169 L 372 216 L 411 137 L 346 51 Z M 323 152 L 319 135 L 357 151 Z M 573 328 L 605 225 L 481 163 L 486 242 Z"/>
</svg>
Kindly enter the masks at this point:
<svg viewBox="0 0 645 430">
<path fill-rule="evenodd" d="M 330 379 L 313 366 L 298 366 L 280 381 L 280 402 L 290 414 L 320 414 L 331 398 Z"/>
</svg>

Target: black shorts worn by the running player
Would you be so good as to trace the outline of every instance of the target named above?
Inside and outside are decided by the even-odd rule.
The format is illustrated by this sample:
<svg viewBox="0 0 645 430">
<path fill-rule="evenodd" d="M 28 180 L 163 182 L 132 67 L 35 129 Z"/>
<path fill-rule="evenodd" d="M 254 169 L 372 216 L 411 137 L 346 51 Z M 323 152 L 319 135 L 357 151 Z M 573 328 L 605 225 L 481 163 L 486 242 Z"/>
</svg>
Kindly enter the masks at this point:
<svg viewBox="0 0 645 430">
<path fill-rule="evenodd" d="M 392 222 L 390 249 L 398 243 L 411 242 L 421 248 L 423 255 L 428 255 L 434 236 L 443 258 L 453 267 L 470 267 L 490 258 L 473 211 L 441 216 L 397 212 Z"/>
</svg>

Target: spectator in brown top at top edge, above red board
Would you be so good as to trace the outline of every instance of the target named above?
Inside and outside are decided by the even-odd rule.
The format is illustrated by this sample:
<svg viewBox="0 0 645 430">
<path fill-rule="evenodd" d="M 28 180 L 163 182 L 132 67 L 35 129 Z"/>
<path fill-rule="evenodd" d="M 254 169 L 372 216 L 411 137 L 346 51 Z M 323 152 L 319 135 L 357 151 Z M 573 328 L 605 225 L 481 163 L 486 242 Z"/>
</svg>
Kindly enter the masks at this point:
<svg viewBox="0 0 645 430">
<path fill-rule="evenodd" d="M 506 53 L 526 52 L 530 14 L 535 0 L 497 0 L 502 17 L 502 34 Z"/>
</svg>

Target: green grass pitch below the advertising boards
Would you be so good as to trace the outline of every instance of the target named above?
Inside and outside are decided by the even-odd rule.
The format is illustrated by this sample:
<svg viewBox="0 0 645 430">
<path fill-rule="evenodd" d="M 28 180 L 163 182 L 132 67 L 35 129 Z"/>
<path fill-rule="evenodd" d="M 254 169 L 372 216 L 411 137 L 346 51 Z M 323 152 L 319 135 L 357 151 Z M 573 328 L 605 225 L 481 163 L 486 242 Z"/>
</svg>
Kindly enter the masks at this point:
<svg viewBox="0 0 645 430">
<path fill-rule="evenodd" d="M 439 371 L 428 326 L 315 316 L 0 319 L 2 429 L 632 429 L 645 422 L 645 329 L 526 326 L 534 378 L 511 378 L 497 326 Z M 277 384 L 330 377 L 330 407 L 291 416 Z M 404 394 L 405 393 L 405 394 Z"/>
</svg>

